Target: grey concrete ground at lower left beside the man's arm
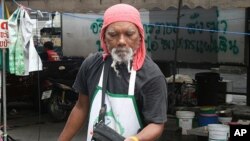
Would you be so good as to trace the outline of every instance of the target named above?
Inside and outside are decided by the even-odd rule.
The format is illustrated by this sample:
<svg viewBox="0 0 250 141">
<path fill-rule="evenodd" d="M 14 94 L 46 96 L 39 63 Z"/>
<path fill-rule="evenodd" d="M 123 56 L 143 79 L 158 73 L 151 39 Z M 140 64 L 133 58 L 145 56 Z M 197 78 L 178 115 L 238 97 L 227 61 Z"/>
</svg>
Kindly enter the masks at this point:
<svg viewBox="0 0 250 141">
<path fill-rule="evenodd" d="M 39 116 L 36 111 L 23 108 L 8 115 L 7 133 L 18 141 L 56 141 L 64 124 L 65 121 L 54 122 L 47 113 Z M 85 137 L 83 127 L 72 141 L 83 141 Z"/>
</svg>

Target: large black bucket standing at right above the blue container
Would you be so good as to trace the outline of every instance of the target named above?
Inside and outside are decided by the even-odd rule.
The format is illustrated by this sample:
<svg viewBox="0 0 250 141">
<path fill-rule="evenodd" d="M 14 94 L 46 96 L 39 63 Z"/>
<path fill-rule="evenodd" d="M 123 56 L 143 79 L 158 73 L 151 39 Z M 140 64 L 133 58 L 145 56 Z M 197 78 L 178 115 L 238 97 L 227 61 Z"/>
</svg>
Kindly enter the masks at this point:
<svg viewBox="0 0 250 141">
<path fill-rule="evenodd" d="M 195 74 L 198 106 L 217 106 L 220 74 L 201 72 Z"/>
</svg>

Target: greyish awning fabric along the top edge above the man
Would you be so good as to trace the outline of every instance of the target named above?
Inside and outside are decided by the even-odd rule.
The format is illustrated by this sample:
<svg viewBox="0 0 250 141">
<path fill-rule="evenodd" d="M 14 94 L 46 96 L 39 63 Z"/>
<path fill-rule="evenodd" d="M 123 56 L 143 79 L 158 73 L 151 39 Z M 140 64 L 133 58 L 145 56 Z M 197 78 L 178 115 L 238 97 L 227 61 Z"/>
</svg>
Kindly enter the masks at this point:
<svg viewBox="0 0 250 141">
<path fill-rule="evenodd" d="M 18 3 L 35 10 L 59 11 L 72 13 L 85 13 L 89 11 L 100 12 L 117 3 L 128 3 L 138 9 L 159 8 L 166 10 L 170 7 L 178 7 L 179 0 L 20 0 Z M 8 6 L 16 9 L 12 0 L 6 0 Z M 202 7 L 209 9 L 219 8 L 246 8 L 250 7 L 250 0 L 183 0 L 183 5 L 188 8 Z"/>
</svg>

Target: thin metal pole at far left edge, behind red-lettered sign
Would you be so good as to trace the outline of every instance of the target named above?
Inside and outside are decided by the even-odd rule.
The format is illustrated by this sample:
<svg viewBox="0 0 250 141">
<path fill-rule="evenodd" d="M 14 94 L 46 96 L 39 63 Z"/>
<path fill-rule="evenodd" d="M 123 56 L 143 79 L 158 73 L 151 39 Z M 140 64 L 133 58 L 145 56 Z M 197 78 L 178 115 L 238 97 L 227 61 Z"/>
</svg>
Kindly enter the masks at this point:
<svg viewBox="0 0 250 141">
<path fill-rule="evenodd" d="M 2 18 L 4 18 L 4 0 L 1 0 L 1 5 L 2 5 Z M 3 87 L 3 138 L 4 141 L 7 141 L 7 107 L 6 107 L 6 64 L 5 64 L 5 53 L 6 53 L 6 48 L 2 48 L 2 76 L 3 76 L 3 83 L 2 83 L 2 87 Z"/>
</svg>

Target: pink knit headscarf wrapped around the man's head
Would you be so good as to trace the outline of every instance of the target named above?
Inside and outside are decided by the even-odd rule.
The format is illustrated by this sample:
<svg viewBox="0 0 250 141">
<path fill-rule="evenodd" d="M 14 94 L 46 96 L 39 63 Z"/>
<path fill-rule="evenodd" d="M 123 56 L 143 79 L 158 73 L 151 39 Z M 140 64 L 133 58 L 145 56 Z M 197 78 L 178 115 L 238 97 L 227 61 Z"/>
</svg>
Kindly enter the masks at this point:
<svg viewBox="0 0 250 141">
<path fill-rule="evenodd" d="M 106 28 L 114 22 L 131 22 L 138 27 L 138 30 L 141 34 L 141 46 L 137 49 L 137 52 L 133 58 L 133 68 L 134 70 L 139 70 L 143 63 L 146 56 L 146 48 L 144 43 L 144 30 L 143 25 L 141 23 L 140 13 L 139 11 L 128 4 L 116 4 L 108 8 L 104 13 L 104 21 L 101 30 L 101 47 L 104 50 L 104 59 L 107 55 L 109 55 L 109 51 L 107 46 L 104 42 L 104 34 Z"/>
</svg>

